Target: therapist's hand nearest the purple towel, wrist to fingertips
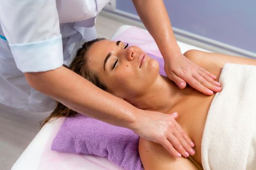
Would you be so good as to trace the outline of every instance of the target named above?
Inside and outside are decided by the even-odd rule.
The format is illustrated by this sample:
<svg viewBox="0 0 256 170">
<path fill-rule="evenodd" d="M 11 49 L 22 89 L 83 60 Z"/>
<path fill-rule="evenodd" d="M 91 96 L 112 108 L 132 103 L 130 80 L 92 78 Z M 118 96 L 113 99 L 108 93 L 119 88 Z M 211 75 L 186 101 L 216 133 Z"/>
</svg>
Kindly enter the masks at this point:
<svg viewBox="0 0 256 170">
<path fill-rule="evenodd" d="M 138 119 L 134 129 L 138 136 L 159 143 L 177 158 L 181 155 L 188 157 L 189 154 L 195 154 L 192 149 L 195 146 L 194 142 L 175 120 L 178 117 L 177 113 L 168 115 L 153 111 L 141 111 L 144 112 L 143 116 Z"/>
</svg>

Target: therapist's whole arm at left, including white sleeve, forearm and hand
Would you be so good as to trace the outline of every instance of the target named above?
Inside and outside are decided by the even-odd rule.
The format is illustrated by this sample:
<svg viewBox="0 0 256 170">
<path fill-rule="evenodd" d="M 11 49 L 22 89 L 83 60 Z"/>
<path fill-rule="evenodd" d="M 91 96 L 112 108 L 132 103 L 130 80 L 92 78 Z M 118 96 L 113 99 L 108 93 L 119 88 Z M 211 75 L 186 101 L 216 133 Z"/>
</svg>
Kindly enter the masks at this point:
<svg viewBox="0 0 256 170">
<path fill-rule="evenodd" d="M 175 156 L 190 151 L 191 139 L 175 121 L 177 116 L 139 110 L 62 67 L 55 0 L 0 0 L 0 23 L 16 65 L 32 87 L 77 112 L 127 127 Z"/>
</svg>

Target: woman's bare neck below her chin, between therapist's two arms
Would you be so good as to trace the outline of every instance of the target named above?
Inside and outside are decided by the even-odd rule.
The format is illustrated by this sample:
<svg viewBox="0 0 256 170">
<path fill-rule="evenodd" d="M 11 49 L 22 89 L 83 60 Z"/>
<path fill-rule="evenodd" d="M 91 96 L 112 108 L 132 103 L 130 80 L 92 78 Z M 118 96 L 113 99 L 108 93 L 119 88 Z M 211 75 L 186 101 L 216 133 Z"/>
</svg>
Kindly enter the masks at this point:
<svg viewBox="0 0 256 170">
<path fill-rule="evenodd" d="M 166 113 L 182 98 L 183 92 L 167 77 L 159 75 L 144 95 L 127 102 L 143 110 Z"/>
</svg>

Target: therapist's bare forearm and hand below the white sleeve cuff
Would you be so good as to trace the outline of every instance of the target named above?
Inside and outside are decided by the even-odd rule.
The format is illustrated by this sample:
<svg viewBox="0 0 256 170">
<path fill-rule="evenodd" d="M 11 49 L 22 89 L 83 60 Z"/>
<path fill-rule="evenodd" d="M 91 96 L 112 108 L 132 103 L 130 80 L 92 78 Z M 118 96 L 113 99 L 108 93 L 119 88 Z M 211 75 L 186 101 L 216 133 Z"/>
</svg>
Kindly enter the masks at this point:
<svg viewBox="0 0 256 170">
<path fill-rule="evenodd" d="M 72 110 L 131 129 L 140 137 L 160 143 L 176 157 L 180 157 L 179 153 L 186 157 L 186 151 L 193 155 L 192 140 L 176 122 L 177 115 L 138 109 L 64 67 L 45 72 L 25 73 L 25 77 L 35 89 Z"/>
</svg>

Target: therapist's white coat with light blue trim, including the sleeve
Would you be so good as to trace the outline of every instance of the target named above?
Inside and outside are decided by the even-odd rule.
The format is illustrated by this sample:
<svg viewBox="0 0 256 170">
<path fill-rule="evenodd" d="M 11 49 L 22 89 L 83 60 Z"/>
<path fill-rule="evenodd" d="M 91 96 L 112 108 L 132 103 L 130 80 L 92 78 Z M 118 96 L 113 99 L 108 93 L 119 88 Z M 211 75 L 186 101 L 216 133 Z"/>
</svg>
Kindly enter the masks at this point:
<svg viewBox="0 0 256 170">
<path fill-rule="evenodd" d="M 45 112 L 53 99 L 32 88 L 23 72 L 68 65 L 80 40 L 97 37 L 98 13 L 110 0 L 0 0 L 0 103 Z"/>
</svg>

